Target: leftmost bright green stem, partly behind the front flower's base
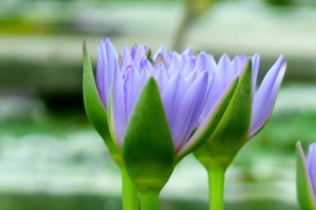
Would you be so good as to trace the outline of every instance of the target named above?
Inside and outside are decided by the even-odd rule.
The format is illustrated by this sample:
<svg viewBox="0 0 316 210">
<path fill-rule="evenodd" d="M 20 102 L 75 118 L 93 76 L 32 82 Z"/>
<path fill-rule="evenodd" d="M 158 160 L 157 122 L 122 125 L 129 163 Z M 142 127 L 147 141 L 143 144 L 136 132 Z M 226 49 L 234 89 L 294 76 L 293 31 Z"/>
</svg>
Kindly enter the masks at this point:
<svg viewBox="0 0 316 210">
<path fill-rule="evenodd" d="M 123 210 L 138 210 L 138 192 L 124 167 L 121 167 Z"/>
</svg>

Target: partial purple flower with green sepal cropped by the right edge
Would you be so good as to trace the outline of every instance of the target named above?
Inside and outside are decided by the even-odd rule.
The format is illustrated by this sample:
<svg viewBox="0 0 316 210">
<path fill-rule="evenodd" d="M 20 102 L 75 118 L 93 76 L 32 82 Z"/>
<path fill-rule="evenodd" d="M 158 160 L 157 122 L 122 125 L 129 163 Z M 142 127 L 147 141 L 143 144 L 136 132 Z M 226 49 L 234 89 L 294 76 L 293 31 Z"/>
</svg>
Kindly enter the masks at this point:
<svg viewBox="0 0 316 210">
<path fill-rule="evenodd" d="M 296 192 L 302 210 L 316 209 L 316 143 L 309 146 L 307 163 L 301 142 L 296 144 Z"/>
</svg>

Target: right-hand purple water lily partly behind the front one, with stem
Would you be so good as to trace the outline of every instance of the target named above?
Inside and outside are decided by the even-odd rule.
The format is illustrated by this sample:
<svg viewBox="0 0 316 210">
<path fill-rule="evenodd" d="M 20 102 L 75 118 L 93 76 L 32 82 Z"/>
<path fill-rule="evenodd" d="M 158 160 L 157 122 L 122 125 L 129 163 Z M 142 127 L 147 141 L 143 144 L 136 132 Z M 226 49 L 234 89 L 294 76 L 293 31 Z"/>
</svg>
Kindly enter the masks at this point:
<svg viewBox="0 0 316 210">
<path fill-rule="evenodd" d="M 251 59 L 237 55 L 232 60 L 224 54 L 218 64 L 212 66 L 215 72 L 213 99 L 216 99 L 217 91 L 221 92 L 232 78 L 239 76 L 236 91 L 218 127 L 194 152 L 209 173 L 210 209 L 213 210 L 223 209 L 225 170 L 240 148 L 265 125 L 284 77 L 286 63 L 280 56 L 256 90 L 259 62 L 258 54 Z M 209 103 L 212 103 L 212 99 Z"/>
</svg>

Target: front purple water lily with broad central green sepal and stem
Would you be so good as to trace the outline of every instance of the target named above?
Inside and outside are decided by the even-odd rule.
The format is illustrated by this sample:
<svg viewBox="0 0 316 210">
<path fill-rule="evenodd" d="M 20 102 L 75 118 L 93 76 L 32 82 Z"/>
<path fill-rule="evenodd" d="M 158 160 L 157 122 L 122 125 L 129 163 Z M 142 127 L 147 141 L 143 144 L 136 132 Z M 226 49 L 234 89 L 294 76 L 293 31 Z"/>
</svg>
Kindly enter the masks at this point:
<svg viewBox="0 0 316 210">
<path fill-rule="evenodd" d="M 217 90 L 212 62 L 190 48 L 178 54 L 162 47 L 151 56 L 145 45 L 135 45 L 118 53 L 105 39 L 98 48 L 97 93 L 87 64 L 87 87 L 94 85 L 93 95 L 99 97 L 86 99 L 86 112 L 96 130 L 107 130 L 107 121 L 106 143 L 138 188 L 143 210 L 157 209 L 176 163 L 208 139 L 230 103 L 238 76 Z M 209 102 L 215 90 L 216 99 Z M 89 104 L 98 107 L 91 110 Z"/>
</svg>

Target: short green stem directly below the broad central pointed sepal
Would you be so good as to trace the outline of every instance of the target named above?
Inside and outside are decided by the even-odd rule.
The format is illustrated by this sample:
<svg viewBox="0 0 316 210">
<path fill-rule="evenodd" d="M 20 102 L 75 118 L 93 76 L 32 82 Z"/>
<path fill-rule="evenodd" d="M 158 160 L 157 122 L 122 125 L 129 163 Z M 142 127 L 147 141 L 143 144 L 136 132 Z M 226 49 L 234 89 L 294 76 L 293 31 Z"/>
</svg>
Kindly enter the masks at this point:
<svg viewBox="0 0 316 210">
<path fill-rule="evenodd" d="M 140 193 L 141 210 L 158 210 L 159 192 Z"/>
</svg>

